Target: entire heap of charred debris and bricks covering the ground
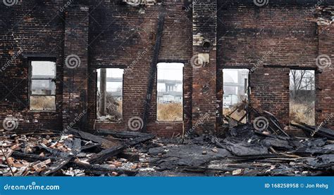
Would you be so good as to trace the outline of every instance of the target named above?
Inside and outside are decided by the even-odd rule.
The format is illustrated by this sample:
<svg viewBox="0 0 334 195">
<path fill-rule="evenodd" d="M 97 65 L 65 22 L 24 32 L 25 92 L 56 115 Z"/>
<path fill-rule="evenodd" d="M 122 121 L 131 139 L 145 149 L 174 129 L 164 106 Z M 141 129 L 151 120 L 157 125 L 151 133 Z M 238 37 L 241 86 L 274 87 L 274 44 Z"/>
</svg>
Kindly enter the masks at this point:
<svg viewBox="0 0 334 195">
<path fill-rule="evenodd" d="M 318 131 L 320 132 L 320 131 Z M 330 175 L 334 141 L 230 128 L 225 137 L 160 139 L 149 133 L 70 129 L 3 132 L 0 174 L 11 175 Z"/>
</svg>

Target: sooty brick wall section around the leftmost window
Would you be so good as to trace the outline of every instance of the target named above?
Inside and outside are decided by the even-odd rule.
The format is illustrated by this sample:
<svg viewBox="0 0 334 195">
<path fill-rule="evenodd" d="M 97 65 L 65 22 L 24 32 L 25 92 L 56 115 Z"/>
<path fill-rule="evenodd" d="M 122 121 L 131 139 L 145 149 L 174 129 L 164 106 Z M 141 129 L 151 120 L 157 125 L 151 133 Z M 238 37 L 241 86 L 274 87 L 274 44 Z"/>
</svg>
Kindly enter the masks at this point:
<svg viewBox="0 0 334 195">
<path fill-rule="evenodd" d="M 1 1 L 0 128 L 7 115 L 20 119 L 19 130 L 61 128 L 64 36 L 61 6 L 62 1 L 19 1 L 13 6 Z M 17 55 L 20 49 L 22 53 Z M 56 59 L 56 112 L 29 111 L 28 61 L 35 57 Z"/>
</svg>

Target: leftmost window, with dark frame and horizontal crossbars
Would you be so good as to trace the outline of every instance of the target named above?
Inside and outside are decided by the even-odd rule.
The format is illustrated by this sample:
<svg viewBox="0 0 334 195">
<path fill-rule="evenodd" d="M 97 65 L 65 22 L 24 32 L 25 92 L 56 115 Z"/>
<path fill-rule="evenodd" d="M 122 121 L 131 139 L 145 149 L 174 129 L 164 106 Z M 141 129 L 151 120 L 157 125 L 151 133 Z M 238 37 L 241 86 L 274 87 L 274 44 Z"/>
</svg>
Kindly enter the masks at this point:
<svg viewBox="0 0 334 195">
<path fill-rule="evenodd" d="M 31 58 L 28 60 L 28 65 L 30 111 L 55 112 L 56 60 L 53 58 Z"/>
</svg>

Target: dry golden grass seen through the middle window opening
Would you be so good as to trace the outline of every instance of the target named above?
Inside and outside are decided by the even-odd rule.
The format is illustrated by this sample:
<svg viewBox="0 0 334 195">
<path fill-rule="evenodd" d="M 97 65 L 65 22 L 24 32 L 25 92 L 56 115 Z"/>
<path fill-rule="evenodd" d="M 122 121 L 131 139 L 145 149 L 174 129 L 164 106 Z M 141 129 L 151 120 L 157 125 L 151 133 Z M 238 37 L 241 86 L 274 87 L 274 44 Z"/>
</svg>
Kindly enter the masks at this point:
<svg viewBox="0 0 334 195">
<path fill-rule="evenodd" d="M 181 103 L 158 104 L 158 121 L 182 121 L 183 106 Z"/>
</svg>

